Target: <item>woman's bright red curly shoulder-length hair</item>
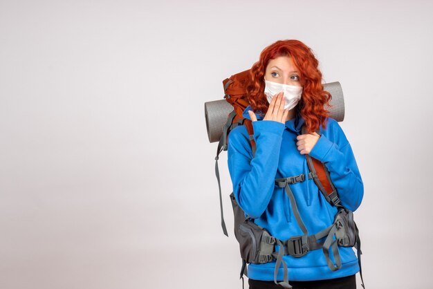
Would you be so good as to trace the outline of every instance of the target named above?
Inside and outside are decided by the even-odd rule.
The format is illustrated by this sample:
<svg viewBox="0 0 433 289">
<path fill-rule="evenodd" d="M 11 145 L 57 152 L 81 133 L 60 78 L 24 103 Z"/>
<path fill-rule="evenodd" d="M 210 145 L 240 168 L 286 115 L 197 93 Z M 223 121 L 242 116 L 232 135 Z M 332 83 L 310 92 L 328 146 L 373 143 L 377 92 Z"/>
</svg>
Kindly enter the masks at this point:
<svg viewBox="0 0 433 289">
<path fill-rule="evenodd" d="M 263 115 L 268 111 L 264 75 L 270 59 L 279 56 L 291 57 L 293 64 L 300 71 L 300 83 L 304 88 L 296 108 L 305 120 L 306 130 L 313 133 L 319 129 L 320 124 L 325 129 L 329 111 L 324 109 L 324 104 L 330 106 L 331 93 L 323 90 L 322 73 L 319 71 L 319 62 L 313 51 L 299 40 L 279 40 L 260 53 L 259 61 L 250 69 L 251 80 L 246 95 L 250 106 L 254 111 L 261 111 Z"/>
</svg>

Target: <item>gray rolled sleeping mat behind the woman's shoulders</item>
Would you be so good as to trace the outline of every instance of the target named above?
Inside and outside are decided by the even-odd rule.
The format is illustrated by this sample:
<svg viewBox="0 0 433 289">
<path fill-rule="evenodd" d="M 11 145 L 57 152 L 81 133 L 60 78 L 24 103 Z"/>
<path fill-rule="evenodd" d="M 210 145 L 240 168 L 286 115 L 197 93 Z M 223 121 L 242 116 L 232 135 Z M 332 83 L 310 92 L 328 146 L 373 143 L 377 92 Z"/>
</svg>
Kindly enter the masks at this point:
<svg viewBox="0 0 433 289">
<path fill-rule="evenodd" d="M 331 113 L 331 118 L 342 122 L 344 120 L 344 95 L 340 82 L 323 84 L 324 91 L 332 95 L 331 107 L 325 109 Z M 208 129 L 209 142 L 218 142 L 223 133 L 223 127 L 228 115 L 233 111 L 233 106 L 225 100 L 205 102 L 206 129 Z"/>
</svg>

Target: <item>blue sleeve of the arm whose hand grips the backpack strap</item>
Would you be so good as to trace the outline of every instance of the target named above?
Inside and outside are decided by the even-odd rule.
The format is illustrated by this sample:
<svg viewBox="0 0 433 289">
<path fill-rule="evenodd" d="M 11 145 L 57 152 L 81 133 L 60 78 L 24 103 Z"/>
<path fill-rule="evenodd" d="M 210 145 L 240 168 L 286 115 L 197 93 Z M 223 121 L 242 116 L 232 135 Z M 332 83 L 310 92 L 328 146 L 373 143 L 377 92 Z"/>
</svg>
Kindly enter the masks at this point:
<svg viewBox="0 0 433 289">
<path fill-rule="evenodd" d="M 331 120 L 328 126 L 310 151 L 310 156 L 324 162 L 342 205 L 355 211 L 364 196 L 358 165 L 338 122 Z"/>
</svg>

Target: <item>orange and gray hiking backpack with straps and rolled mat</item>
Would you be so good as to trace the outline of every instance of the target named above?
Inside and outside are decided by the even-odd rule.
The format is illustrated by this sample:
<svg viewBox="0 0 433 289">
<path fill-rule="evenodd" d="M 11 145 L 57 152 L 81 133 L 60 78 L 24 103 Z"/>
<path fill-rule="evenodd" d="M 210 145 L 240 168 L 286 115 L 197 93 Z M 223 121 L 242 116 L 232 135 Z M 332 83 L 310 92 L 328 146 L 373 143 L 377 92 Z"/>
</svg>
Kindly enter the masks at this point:
<svg viewBox="0 0 433 289">
<path fill-rule="evenodd" d="M 254 131 L 252 129 L 252 121 L 243 118 L 242 113 L 248 106 L 246 100 L 246 86 L 250 80 L 250 70 L 242 71 L 232 75 L 231 77 L 223 80 L 224 87 L 224 100 L 217 100 L 213 102 L 205 102 L 205 120 L 208 129 L 208 138 L 210 142 L 218 141 L 215 157 L 215 175 L 219 187 L 219 202 L 221 211 L 221 227 L 223 233 L 228 236 L 227 228 L 223 218 L 223 203 L 221 196 L 221 182 L 219 176 L 218 160 L 221 151 L 226 151 L 228 148 L 228 135 L 232 129 L 239 125 L 245 125 L 250 139 L 252 148 L 252 156 L 255 156 L 256 145 L 253 138 Z M 340 83 L 332 82 L 324 84 L 324 89 L 331 93 L 332 100 L 331 106 L 327 108 L 331 111 L 331 115 L 335 120 L 342 121 L 344 118 L 344 101 L 342 96 L 342 89 Z M 316 131 L 320 135 L 320 130 Z M 306 133 L 305 126 L 302 127 L 302 134 Z M 260 227 L 254 222 L 254 219 L 247 218 L 241 207 L 237 204 L 234 194 L 230 194 L 230 201 L 234 213 L 234 235 L 239 242 L 239 249 L 241 252 L 242 267 L 240 278 L 243 284 L 243 275 L 248 277 L 246 270 L 246 263 L 268 263 L 276 259 L 274 281 L 284 288 L 292 288 L 288 283 L 288 270 L 287 265 L 282 258 L 284 254 L 290 254 L 293 257 L 302 257 L 310 250 L 322 249 L 326 258 L 326 263 L 332 271 L 341 268 L 340 254 L 338 246 L 343 247 L 356 247 L 358 255 L 358 264 L 360 267 L 360 277 L 362 281 L 362 288 L 365 289 L 364 281 L 362 279 L 361 259 L 360 254 L 360 237 L 358 227 L 353 221 L 353 212 L 343 207 L 338 198 L 338 192 L 333 186 L 329 171 L 326 166 L 311 158 L 308 154 L 305 155 L 308 168 L 310 172 L 307 176 L 300 174 L 298 176 L 291 176 L 287 178 L 275 179 L 275 185 L 284 187 L 293 209 L 293 214 L 297 224 L 300 226 L 303 235 L 293 236 L 288 240 L 279 240 L 271 236 L 263 227 Z M 312 178 L 322 192 L 322 195 L 331 205 L 338 208 L 335 214 L 334 222 L 331 226 L 318 232 L 314 235 L 308 235 L 306 227 L 302 222 L 302 218 L 297 209 L 295 198 L 289 185 L 300 183 L 306 178 Z M 317 242 L 326 236 L 325 241 Z M 335 240 L 333 240 L 335 236 Z M 275 252 L 275 245 L 279 245 L 284 250 Z M 329 254 L 332 250 L 335 264 L 331 261 Z M 279 267 L 283 265 L 284 281 L 277 282 L 277 272 Z"/>
</svg>

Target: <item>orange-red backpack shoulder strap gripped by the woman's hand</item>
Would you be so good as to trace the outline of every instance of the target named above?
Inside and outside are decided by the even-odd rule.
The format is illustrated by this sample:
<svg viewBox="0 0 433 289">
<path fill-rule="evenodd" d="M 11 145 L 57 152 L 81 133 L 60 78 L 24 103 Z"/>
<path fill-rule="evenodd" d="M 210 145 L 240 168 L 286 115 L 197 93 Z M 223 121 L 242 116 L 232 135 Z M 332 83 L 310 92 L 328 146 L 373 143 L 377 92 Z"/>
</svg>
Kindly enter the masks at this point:
<svg viewBox="0 0 433 289">
<path fill-rule="evenodd" d="M 307 131 L 304 124 L 302 126 L 302 134 L 306 133 Z M 320 129 L 317 129 L 316 133 L 320 135 Z M 308 168 L 310 169 L 310 174 L 308 177 L 313 178 L 315 184 L 317 187 L 319 187 L 320 192 L 322 192 L 326 201 L 335 207 L 342 207 L 340 204 L 340 198 L 338 198 L 337 190 L 332 183 L 331 176 L 329 175 L 329 171 L 324 163 L 315 158 L 311 158 L 309 154 L 306 154 L 305 156 Z"/>
</svg>

